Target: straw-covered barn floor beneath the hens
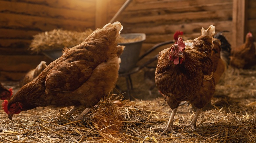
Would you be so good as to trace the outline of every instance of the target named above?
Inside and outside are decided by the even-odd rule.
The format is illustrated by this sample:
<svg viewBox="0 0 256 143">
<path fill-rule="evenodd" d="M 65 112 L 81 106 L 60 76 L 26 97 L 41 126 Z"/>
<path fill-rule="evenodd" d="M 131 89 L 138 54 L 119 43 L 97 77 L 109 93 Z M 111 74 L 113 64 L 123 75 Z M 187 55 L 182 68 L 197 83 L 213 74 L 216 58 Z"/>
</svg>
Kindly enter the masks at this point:
<svg viewBox="0 0 256 143">
<path fill-rule="evenodd" d="M 118 93 L 126 91 L 125 78 L 120 77 L 117 95 L 98 103 L 77 122 L 63 115 L 71 108 L 39 107 L 22 111 L 13 120 L 0 109 L 0 142 L 256 142 L 256 68 L 232 72 L 227 69 L 216 86 L 196 131 L 181 128 L 175 129 L 180 135 L 160 135 L 171 109 L 154 86 L 152 70 L 143 69 L 131 76 L 131 96 L 136 99 L 123 100 L 129 96 Z M 14 94 L 19 89 L 18 82 L 1 83 L 12 87 Z M 117 100 L 121 103 L 113 103 Z M 185 103 L 178 108 L 174 124 L 188 124 L 193 117 L 192 106 Z"/>
</svg>

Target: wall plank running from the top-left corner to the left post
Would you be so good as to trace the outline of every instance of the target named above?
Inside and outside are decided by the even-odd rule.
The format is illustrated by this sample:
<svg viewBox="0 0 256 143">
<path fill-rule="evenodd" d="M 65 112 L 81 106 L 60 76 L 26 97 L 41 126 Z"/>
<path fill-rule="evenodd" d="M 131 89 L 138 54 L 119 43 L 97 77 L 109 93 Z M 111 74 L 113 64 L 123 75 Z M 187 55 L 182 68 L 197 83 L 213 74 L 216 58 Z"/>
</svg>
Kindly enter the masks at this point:
<svg viewBox="0 0 256 143">
<path fill-rule="evenodd" d="M 24 2 L 0 1 L 0 11 L 39 17 L 87 21 L 87 19 L 94 19 L 95 17 L 95 3 L 84 6 L 83 11 L 81 11 L 77 9 L 53 8 Z"/>
</svg>

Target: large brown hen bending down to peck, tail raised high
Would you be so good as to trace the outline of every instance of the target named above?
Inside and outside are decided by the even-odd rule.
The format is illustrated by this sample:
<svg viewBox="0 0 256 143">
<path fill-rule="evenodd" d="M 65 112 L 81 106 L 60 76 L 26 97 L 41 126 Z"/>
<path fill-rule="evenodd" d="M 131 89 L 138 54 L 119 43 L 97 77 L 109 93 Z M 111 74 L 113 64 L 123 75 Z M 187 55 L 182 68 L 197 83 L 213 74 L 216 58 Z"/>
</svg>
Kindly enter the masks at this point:
<svg viewBox="0 0 256 143">
<path fill-rule="evenodd" d="M 117 81 L 117 38 L 122 28 L 119 22 L 106 24 L 81 44 L 65 48 L 63 55 L 21 87 L 8 105 L 4 102 L 9 119 L 13 114 L 39 106 L 91 108 L 98 103 Z M 81 118 L 78 116 L 75 120 Z"/>
</svg>

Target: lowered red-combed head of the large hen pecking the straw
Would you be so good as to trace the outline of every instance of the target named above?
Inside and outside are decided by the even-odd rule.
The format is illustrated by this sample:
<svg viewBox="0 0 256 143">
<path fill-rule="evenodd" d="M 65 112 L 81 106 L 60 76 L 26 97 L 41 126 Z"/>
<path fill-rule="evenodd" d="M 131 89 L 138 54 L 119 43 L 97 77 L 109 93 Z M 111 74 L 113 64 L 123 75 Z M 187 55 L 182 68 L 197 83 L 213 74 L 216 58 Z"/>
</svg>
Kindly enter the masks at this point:
<svg viewBox="0 0 256 143">
<path fill-rule="evenodd" d="M 8 114 L 9 119 L 12 119 L 13 114 L 19 114 L 22 110 L 22 104 L 20 102 L 8 104 L 7 100 L 3 101 L 2 107 L 5 113 Z"/>
</svg>

